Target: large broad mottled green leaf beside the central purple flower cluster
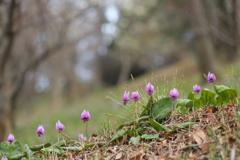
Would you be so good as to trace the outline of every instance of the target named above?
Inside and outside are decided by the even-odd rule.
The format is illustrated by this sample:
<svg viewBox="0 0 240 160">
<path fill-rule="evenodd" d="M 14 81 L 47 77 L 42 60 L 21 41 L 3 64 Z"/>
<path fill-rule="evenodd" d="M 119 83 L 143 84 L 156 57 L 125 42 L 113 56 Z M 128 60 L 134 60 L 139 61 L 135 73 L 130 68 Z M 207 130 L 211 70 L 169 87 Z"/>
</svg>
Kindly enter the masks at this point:
<svg viewBox="0 0 240 160">
<path fill-rule="evenodd" d="M 173 107 L 171 98 L 160 99 L 152 106 L 153 119 L 160 121 L 170 115 L 172 110 Z"/>
</svg>

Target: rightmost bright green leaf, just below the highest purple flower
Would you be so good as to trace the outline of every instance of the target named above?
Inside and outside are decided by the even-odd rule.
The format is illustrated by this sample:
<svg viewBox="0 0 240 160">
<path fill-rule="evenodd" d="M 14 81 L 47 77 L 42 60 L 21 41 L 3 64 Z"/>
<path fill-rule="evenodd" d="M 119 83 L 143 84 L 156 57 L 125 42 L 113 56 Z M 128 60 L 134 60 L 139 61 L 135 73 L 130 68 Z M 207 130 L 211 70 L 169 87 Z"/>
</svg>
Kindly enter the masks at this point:
<svg viewBox="0 0 240 160">
<path fill-rule="evenodd" d="M 219 97 L 217 101 L 229 102 L 237 97 L 237 91 L 224 85 L 215 85 L 214 89 Z M 221 103 L 221 102 L 220 102 Z"/>
</svg>

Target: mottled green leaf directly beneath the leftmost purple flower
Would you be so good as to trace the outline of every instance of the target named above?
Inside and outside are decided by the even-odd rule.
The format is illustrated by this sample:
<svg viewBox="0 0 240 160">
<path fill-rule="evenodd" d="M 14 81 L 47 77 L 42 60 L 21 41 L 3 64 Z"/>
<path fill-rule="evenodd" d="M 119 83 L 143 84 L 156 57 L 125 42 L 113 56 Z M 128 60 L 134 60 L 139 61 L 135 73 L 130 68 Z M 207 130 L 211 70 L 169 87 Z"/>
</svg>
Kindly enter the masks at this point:
<svg viewBox="0 0 240 160">
<path fill-rule="evenodd" d="M 12 150 L 12 154 L 11 154 Z M 18 141 L 14 141 L 12 144 L 9 142 L 2 142 L 0 143 L 0 155 L 4 155 L 6 157 L 10 157 L 10 154 L 12 156 L 23 154 L 21 145 Z"/>
</svg>

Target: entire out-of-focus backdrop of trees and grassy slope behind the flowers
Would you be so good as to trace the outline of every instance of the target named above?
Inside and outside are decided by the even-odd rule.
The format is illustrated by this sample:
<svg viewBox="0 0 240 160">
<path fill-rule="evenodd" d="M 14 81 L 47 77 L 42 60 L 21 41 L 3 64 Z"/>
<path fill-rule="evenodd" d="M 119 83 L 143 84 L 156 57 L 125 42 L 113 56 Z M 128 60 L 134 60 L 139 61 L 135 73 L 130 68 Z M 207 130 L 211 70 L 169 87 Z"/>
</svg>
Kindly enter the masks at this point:
<svg viewBox="0 0 240 160">
<path fill-rule="evenodd" d="M 148 81 L 166 96 L 209 71 L 224 83 L 239 36 L 239 0 L 0 0 L 0 142 L 39 143 L 40 124 L 56 141 L 57 120 L 77 139 L 84 109 L 90 133 L 111 133 L 124 90 Z"/>
</svg>

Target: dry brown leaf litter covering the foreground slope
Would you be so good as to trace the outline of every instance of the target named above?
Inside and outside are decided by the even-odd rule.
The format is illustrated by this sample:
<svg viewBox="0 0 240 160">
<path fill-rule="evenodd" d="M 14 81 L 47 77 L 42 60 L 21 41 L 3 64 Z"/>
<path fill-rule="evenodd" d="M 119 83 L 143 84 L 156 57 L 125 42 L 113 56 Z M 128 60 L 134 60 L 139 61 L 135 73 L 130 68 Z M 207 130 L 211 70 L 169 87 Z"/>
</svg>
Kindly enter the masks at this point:
<svg viewBox="0 0 240 160">
<path fill-rule="evenodd" d="M 146 140 L 141 139 L 137 145 L 130 143 L 130 137 L 125 136 L 121 142 L 108 143 L 108 139 L 101 136 L 91 137 L 90 142 L 106 142 L 105 145 L 95 145 L 83 151 L 68 153 L 67 159 L 106 159 L 106 160 L 167 160 L 167 159 L 211 159 L 209 152 L 221 158 L 237 155 L 239 132 L 235 113 L 235 104 L 227 107 L 210 106 L 199 109 L 188 115 L 176 115 L 175 124 L 198 122 L 190 128 L 178 128 L 174 133 L 158 132 L 159 137 Z M 163 124 L 171 127 L 173 124 Z M 237 132 L 238 131 L 238 132 Z M 148 131 L 148 134 L 151 133 Z M 239 142 L 238 142 L 239 143 Z M 225 147 L 223 149 L 223 147 Z M 61 157 L 60 157 L 61 158 Z"/>
</svg>

